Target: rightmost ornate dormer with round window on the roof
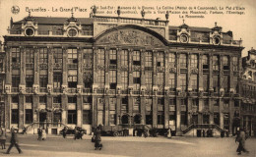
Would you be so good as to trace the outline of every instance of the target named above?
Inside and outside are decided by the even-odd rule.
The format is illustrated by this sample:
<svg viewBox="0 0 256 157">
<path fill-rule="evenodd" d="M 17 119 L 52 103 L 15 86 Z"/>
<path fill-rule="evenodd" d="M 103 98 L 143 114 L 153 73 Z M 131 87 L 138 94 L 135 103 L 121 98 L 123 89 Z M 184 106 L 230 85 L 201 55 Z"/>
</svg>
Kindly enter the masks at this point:
<svg viewBox="0 0 256 157">
<path fill-rule="evenodd" d="M 223 27 L 217 26 L 215 23 L 215 27 L 212 28 L 212 32 L 210 33 L 210 43 L 214 45 L 220 45 L 223 43 Z"/>
</svg>

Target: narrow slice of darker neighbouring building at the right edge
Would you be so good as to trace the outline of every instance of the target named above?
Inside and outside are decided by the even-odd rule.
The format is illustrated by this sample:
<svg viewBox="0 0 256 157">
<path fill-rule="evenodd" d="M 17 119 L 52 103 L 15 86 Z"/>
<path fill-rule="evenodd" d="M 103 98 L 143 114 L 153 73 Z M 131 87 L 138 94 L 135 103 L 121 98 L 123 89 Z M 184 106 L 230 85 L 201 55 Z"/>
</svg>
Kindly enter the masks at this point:
<svg viewBox="0 0 256 157">
<path fill-rule="evenodd" d="M 250 135 L 256 131 L 256 51 L 251 49 L 242 59 L 241 123 Z M 254 133 L 255 134 L 255 133 Z"/>
</svg>

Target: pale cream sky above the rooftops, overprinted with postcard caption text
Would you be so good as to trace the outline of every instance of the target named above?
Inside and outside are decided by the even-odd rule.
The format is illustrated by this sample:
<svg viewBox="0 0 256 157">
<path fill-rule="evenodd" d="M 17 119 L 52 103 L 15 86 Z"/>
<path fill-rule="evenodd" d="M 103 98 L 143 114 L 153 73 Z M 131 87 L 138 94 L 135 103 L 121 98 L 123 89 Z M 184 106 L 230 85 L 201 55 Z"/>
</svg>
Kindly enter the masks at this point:
<svg viewBox="0 0 256 157">
<path fill-rule="evenodd" d="M 116 17 L 114 11 L 117 7 L 122 7 L 121 11 L 131 11 L 131 14 L 121 14 L 121 17 L 141 18 L 141 10 L 145 9 L 145 19 L 165 20 L 165 11 L 175 11 L 180 13 L 169 15 L 169 26 L 180 26 L 184 23 L 188 26 L 223 27 L 223 31 L 231 30 L 233 39 L 243 40 L 245 47 L 242 56 L 247 55 L 247 51 L 252 47 L 256 49 L 256 3 L 255 0 L 0 0 L 0 39 L 7 34 L 7 28 L 10 26 L 10 19 L 14 22 L 20 21 L 29 15 L 29 9 L 32 9 L 33 17 L 71 17 L 71 8 L 73 8 L 76 18 L 89 18 L 91 7 L 98 7 L 97 15 Z M 12 6 L 18 6 L 20 12 L 13 14 Z M 189 8 L 191 7 L 191 8 Z M 216 14 L 210 13 L 206 8 L 217 8 Z M 75 11 L 75 8 L 77 10 Z M 80 8 L 80 10 L 79 10 Z M 179 9 L 178 9 L 179 8 Z M 62 10 L 65 9 L 65 10 Z M 175 10 L 176 9 L 176 10 Z M 237 10 L 238 9 L 238 10 Z M 102 13 L 101 11 L 104 11 Z M 112 13 L 107 11 L 112 11 Z M 136 11 L 136 12 L 132 12 Z M 156 12 L 156 14 L 154 13 Z M 204 12 L 204 18 L 187 18 L 183 11 Z M 227 11 L 242 13 L 226 14 Z M 223 12 L 224 14 L 217 14 Z M 184 17 L 182 17 L 182 15 Z M 188 14 L 191 16 L 191 14 Z M 195 15 L 195 14 L 194 14 Z"/>
</svg>

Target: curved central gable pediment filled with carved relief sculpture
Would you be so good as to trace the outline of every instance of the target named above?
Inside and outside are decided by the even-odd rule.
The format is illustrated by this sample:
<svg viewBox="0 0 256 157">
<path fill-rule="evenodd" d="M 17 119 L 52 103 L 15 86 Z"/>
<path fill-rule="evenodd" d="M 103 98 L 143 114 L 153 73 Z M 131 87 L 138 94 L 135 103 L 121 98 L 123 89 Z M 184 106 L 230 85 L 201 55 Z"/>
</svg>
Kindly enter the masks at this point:
<svg viewBox="0 0 256 157">
<path fill-rule="evenodd" d="M 152 30 L 151 30 L 152 31 Z M 136 45 L 136 46 L 165 46 L 157 32 L 146 32 L 136 28 L 121 28 L 106 31 L 96 38 L 96 44 Z M 158 34 L 160 36 L 160 34 Z"/>
</svg>

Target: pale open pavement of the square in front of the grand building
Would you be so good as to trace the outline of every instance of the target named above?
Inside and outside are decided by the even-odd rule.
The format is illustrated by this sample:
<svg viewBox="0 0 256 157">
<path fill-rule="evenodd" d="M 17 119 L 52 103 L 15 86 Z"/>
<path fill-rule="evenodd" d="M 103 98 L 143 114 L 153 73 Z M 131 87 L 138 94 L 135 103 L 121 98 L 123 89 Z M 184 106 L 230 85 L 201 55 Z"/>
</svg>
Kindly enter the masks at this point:
<svg viewBox="0 0 256 157">
<path fill-rule="evenodd" d="M 10 136 L 10 134 L 8 134 Z M 6 150 L 0 149 L 0 156 L 89 156 L 89 157 L 122 157 L 122 156 L 147 156 L 147 157 L 235 157 L 238 143 L 234 137 L 133 137 L 102 136 L 102 150 L 95 150 L 90 135 L 85 135 L 80 140 L 73 136 L 66 139 L 57 135 L 48 135 L 45 141 L 36 140 L 32 134 L 19 134 L 20 146 L 23 154 L 19 154 L 15 147 L 11 154 L 4 154 Z M 9 139 L 7 139 L 7 147 Z M 246 140 L 249 154 L 241 156 L 256 157 L 256 138 Z"/>
</svg>

